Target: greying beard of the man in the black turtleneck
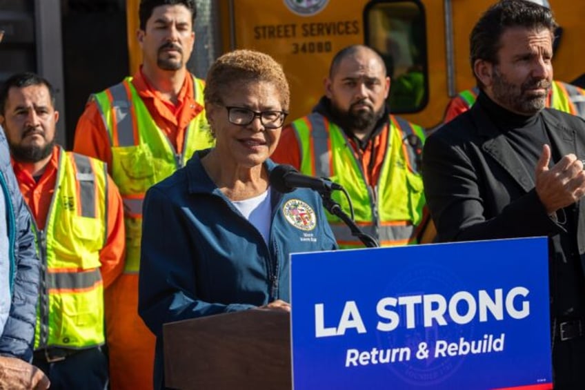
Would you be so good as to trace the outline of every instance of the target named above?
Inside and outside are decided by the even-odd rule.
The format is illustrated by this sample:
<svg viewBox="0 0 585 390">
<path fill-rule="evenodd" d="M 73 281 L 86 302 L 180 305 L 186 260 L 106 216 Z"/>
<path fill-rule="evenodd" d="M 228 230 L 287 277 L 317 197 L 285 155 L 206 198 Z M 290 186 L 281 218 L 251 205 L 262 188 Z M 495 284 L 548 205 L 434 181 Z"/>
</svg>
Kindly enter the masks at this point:
<svg viewBox="0 0 585 390">
<path fill-rule="evenodd" d="M 501 102 L 504 107 L 511 108 L 516 113 L 534 115 L 546 106 L 548 90 L 551 83 L 546 80 L 528 79 L 519 88 L 506 79 L 506 76 L 499 72 L 497 66 L 493 70 L 493 95 L 496 101 Z M 544 96 L 527 96 L 526 90 L 530 88 L 546 88 Z"/>
</svg>

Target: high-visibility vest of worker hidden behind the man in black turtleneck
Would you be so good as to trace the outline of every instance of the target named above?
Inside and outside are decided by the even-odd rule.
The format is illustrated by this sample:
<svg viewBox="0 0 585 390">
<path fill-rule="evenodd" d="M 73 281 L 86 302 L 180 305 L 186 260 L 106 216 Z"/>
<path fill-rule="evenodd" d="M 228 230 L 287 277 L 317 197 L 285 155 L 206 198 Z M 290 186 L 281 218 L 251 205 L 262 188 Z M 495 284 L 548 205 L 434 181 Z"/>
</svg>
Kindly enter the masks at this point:
<svg viewBox="0 0 585 390">
<path fill-rule="evenodd" d="M 467 108 L 471 108 L 477 100 L 477 95 L 479 95 L 479 88 L 476 86 L 459 92 L 457 97 L 465 101 Z M 585 90 L 562 81 L 553 80 L 551 93 L 546 99 L 546 107 L 585 118 Z"/>
</svg>

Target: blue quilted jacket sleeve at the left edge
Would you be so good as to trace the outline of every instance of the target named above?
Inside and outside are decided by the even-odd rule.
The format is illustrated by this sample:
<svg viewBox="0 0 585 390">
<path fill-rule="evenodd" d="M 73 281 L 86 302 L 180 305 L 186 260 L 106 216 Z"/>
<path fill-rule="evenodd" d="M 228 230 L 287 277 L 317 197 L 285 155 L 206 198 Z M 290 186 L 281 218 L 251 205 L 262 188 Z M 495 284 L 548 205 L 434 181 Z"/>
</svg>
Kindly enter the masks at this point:
<svg viewBox="0 0 585 390">
<path fill-rule="evenodd" d="M 2 153 L 3 150 L 0 150 Z M 7 152 L 8 153 L 8 152 Z M 10 166 L 3 166 L 8 191 L 12 198 L 16 231 L 14 261 L 16 273 L 12 291 L 10 316 L 0 336 L 0 354 L 30 361 L 37 319 L 39 296 L 39 258 L 31 230 L 30 213 L 24 204 L 16 177 Z"/>
</svg>

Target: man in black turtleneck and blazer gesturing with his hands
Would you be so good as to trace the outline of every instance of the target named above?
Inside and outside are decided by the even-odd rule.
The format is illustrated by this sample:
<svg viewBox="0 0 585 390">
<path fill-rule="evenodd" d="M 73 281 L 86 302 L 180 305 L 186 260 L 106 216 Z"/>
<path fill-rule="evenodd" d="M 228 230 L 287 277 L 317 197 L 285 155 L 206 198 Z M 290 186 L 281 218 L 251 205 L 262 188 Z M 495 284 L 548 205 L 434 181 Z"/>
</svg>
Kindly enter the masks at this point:
<svg viewBox="0 0 585 390">
<path fill-rule="evenodd" d="M 548 236 L 555 389 L 585 389 L 585 121 L 544 108 L 555 26 L 524 0 L 484 13 L 477 104 L 428 138 L 423 178 L 440 242 Z"/>
</svg>

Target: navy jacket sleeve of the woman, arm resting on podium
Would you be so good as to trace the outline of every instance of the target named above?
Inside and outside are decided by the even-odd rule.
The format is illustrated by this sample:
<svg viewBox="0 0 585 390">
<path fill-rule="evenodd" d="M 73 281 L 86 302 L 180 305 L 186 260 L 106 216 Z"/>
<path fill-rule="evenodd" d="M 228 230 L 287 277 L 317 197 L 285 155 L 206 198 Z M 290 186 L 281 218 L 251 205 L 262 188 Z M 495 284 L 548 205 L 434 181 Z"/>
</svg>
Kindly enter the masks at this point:
<svg viewBox="0 0 585 390">
<path fill-rule="evenodd" d="M 181 207 L 150 188 L 143 205 L 138 313 L 157 337 L 167 322 L 255 307 L 197 298 L 196 246 Z"/>
</svg>

